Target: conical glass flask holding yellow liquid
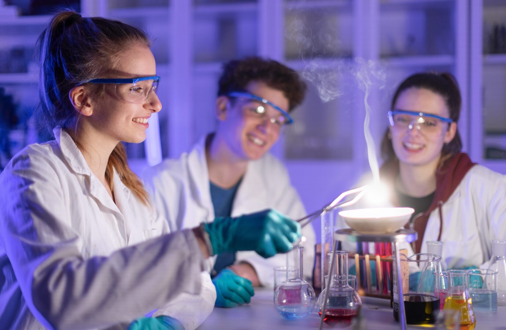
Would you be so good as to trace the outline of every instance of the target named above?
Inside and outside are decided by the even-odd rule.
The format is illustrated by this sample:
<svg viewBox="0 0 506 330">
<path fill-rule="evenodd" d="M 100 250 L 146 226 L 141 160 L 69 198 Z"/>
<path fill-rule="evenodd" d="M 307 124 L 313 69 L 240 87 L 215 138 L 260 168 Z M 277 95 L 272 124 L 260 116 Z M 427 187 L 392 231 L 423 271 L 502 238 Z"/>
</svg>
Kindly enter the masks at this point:
<svg viewBox="0 0 506 330">
<path fill-rule="evenodd" d="M 469 299 L 468 271 L 449 270 L 450 290 L 444 303 L 444 310 L 458 309 L 460 311 L 460 328 L 472 330 L 476 326 L 472 299 Z"/>
</svg>

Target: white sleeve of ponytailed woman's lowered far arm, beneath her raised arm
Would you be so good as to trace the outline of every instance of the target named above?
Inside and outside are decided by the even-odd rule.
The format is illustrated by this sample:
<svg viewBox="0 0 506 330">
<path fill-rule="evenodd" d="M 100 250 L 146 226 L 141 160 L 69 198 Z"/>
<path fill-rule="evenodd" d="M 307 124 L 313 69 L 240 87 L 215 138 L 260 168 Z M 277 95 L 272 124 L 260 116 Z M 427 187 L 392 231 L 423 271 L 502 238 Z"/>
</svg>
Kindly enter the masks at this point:
<svg viewBox="0 0 506 330">
<path fill-rule="evenodd" d="M 185 330 L 197 328 L 211 314 L 216 301 L 216 288 L 208 272 L 201 272 L 202 290 L 199 295 L 182 293 L 172 302 L 159 308 L 153 317 L 171 316 L 183 324 Z"/>
</svg>

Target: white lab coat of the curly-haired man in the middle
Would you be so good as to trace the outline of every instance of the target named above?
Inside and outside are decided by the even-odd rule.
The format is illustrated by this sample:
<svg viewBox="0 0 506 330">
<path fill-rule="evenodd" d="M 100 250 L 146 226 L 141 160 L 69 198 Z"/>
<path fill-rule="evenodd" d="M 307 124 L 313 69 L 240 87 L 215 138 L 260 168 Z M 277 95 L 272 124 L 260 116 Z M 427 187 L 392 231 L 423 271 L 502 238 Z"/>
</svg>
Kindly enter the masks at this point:
<svg viewBox="0 0 506 330">
<path fill-rule="evenodd" d="M 167 159 L 148 169 L 145 186 L 171 230 L 180 230 L 212 222 L 215 219 L 210 196 L 209 176 L 205 158 L 205 137 L 179 159 Z M 248 162 L 246 174 L 237 189 L 232 205 L 232 217 L 265 209 L 276 209 L 292 219 L 306 214 L 297 191 L 291 186 L 288 173 L 282 163 L 267 153 L 259 160 Z M 306 241 L 304 249 L 304 277 L 311 277 L 314 261 L 315 233 L 311 225 L 302 230 Z M 210 270 L 215 258 L 209 259 Z M 274 286 L 275 266 L 286 265 L 286 257 L 278 254 L 264 259 L 255 252 L 238 252 L 236 263 L 251 264 L 264 286 Z"/>
</svg>

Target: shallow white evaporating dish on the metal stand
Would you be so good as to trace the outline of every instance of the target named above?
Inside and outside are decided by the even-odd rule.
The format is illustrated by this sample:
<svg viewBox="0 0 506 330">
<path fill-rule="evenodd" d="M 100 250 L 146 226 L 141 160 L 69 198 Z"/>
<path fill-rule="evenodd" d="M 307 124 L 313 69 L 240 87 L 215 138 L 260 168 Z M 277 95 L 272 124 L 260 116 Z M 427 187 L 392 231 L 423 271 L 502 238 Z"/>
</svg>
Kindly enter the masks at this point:
<svg viewBox="0 0 506 330">
<path fill-rule="evenodd" d="M 341 211 L 346 224 L 362 234 L 389 234 L 404 227 L 412 208 L 376 208 Z"/>
</svg>

